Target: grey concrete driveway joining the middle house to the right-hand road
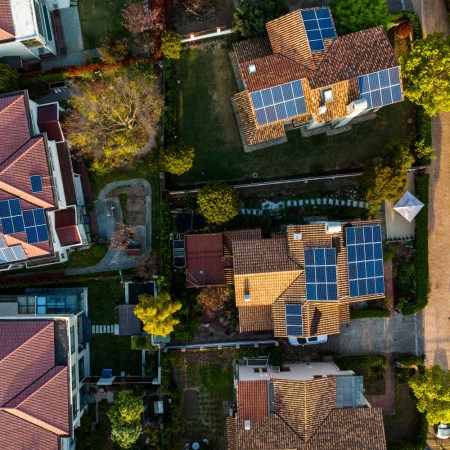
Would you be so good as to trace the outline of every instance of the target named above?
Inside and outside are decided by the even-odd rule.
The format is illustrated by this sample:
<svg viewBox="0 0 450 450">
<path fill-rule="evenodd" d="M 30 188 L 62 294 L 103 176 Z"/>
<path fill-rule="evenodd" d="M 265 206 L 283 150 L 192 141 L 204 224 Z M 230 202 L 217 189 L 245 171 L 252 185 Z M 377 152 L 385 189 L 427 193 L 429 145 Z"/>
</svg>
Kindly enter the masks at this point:
<svg viewBox="0 0 450 450">
<path fill-rule="evenodd" d="M 343 355 L 365 353 L 413 353 L 423 355 L 422 314 L 352 320 L 341 333 L 330 336 Z"/>
</svg>

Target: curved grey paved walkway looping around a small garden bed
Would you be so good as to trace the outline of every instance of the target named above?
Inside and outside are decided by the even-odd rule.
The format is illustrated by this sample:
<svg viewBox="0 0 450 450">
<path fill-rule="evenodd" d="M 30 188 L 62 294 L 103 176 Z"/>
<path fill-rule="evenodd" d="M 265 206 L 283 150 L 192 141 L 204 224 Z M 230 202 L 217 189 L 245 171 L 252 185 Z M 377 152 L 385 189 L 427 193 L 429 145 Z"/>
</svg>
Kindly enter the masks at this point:
<svg viewBox="0 0 450 450">
<path fill-rule="evenodd" d="M 134 180 L 114 181 L 101 190 L 98 200 L 94 202 L 100 235 L 110 239 L 116 228 L 116 223 L 122 221 L 122 210 L 119 200 L 116 198 L 106 198 L 106 196 L 114 189 L 128 186 L 143 186 L 145 189 L 145 226 L 136 226 L 134 228 L 135 233 L 141 238 L 144 247 L 143 254 L 129 256 L 123 251 L 110 248 L 105 257 L 95 266 L 81 269 L 67 269 L 65 271 L 66 275 L 130 269 L 148 259 L 152 249 L 152 188 L 147 180 L 136 178 Z"/>
</svg>

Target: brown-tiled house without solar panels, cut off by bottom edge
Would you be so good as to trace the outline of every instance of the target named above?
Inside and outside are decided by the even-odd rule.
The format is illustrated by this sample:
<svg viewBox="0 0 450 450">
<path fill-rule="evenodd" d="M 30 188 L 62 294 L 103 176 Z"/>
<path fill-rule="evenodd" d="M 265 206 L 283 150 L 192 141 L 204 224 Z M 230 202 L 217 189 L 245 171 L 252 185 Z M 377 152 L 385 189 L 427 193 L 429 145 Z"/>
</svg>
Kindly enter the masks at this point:
<svg viewBox="0 0 450 450">
<path fill-rule="evenodd" d="M 383 415 L 362 377 L 333 363 L 272 367 L 248 358 L 235 375 L 228 450 L 385 450 Z"/>
</svg>

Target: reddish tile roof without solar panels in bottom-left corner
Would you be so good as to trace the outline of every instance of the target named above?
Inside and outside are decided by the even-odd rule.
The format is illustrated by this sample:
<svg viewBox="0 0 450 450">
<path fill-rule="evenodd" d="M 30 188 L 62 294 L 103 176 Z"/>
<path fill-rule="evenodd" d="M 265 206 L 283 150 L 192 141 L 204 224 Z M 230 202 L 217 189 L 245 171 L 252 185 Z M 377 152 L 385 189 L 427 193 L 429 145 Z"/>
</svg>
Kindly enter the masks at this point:
<svg viewBox="0 0 450 450">
<path fill-rule="evenodd" d="M 57 450 L 70 434 L 70 402 L 53 322 L 0 321 L 0 342 L 0 448 Z"/>
</svg>

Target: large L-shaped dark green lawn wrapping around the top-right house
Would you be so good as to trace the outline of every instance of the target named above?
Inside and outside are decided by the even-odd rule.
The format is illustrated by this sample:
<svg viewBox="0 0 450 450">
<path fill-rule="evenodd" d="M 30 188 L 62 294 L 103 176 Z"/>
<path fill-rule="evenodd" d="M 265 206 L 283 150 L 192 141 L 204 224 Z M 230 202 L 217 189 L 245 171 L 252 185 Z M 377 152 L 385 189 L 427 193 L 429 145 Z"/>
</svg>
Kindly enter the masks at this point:
<svg viewBox="0 0 450 450">
<path fill-rule="evenodd" d="M 182 53 L 179 132 L 195 148 L 196 157 L 193 168 L 174 180 L 180 186 L 210 179 L 248 180 L 255 172 L 263 179 L 359 168 L 389 141 L 415 132 L 415 109 L 403 102 L 382 108 L 377 119 L 337 136 L 305 139 L 295 130 L 288 133 L 286 144 L 246 154 L 230 102 L 237 91 L 230 50 L 223 46 Z"/>
</svg>

